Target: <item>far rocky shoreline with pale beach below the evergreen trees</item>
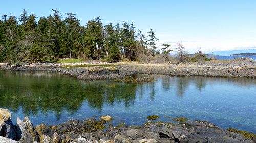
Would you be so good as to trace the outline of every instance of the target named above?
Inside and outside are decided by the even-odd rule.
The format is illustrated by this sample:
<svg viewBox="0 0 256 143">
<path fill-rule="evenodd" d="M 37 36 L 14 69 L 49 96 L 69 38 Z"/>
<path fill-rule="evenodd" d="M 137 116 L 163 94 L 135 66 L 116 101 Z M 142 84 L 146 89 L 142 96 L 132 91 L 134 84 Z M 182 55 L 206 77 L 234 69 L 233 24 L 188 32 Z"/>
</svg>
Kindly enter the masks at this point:
<svg viewBox="0 0 256 143">
<path fill-rule="evenodd" d="M 93 67 L 84 65 L 94 65 Z M 104 64 L 104 66 L 100 66 Z M 97 66 L 99 65 L 99 66 Z M 71 68 L 69 68 L 69 66 Z M 78 66 L 78 67 L 77 67 Z M 161 74 L 168 76 L 208 76 L 208 77 L 256 77 L 256 62 L 251 58 L 217 60 L 188 64 L 149 64 L 149 63 L 38 63 L 23 65 L 0 64 L 0 70 L 48 71 L 63 73 L 83 80 L 122 79 L 131 74 Z"/>
</svg>

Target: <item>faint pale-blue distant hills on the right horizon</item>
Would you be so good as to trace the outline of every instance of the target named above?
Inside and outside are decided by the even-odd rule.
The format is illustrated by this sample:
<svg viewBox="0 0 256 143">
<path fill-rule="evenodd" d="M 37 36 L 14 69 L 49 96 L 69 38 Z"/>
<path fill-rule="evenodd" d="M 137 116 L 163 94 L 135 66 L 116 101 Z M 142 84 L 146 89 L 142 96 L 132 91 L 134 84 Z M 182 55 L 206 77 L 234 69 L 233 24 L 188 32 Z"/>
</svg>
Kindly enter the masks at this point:
<svg viewBox="0 0 256 143">
<path fill-rule="evenodd" d="M 220 56 L 229 56 L 229 55 L 238 54 L 238 53 L 256 53 L 256 49 L 230 50 L 230 51 L 214 51 L 214 52 L 209 52 L 207 54 L 220 55 Z"/>
</svg>

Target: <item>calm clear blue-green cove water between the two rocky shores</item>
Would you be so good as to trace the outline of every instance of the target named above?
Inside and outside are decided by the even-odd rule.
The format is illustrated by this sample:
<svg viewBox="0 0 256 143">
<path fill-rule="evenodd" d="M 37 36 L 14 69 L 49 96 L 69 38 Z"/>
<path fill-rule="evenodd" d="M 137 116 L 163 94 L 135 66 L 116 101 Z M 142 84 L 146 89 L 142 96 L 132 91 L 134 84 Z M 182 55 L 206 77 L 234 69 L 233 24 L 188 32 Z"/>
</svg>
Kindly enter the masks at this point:
<svg viewBox="0 0 256 143">
<path fill-rule="evenodd" d="M 34 125 L 109 114 L 140 125 L 145 116 L 207 120 L 256 132 L 256 79 L 149 76 L 150 83 L 82 81 L 52 73 L 0 71 L 0 108 Z"/>
</svg>

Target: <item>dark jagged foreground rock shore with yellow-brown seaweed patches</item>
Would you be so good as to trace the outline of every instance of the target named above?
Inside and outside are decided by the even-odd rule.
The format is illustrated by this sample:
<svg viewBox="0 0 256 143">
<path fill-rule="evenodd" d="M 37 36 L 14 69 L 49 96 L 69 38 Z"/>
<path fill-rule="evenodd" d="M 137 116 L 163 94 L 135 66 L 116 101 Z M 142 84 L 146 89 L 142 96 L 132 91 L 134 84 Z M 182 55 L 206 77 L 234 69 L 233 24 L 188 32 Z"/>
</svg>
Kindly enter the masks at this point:
<svg viewBox="0 0 256 143">
<path fill-rule="evenodd" d="M 0 142 L 256 142 L 254 137 L 230 132 L 207 121 L 177 120 L 177 124 L 148 121 L 141 126 L 113 126 L 107 121 L 86 118 L 68 120 L 56 126 L 45 124 L 36 127 L 28 117 L 11 122 L 11 113 L 0 109 Z M 108 126 L 108 127 L 106 127 Z"/>
</svg>

